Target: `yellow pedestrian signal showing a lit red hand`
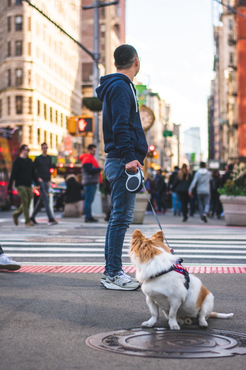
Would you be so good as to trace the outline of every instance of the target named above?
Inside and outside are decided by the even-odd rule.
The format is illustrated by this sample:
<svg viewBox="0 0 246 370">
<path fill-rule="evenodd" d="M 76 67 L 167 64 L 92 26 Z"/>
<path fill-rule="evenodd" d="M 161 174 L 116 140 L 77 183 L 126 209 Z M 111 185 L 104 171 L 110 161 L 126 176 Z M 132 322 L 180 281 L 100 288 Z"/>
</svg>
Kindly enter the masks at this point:
<svg viewBox="0 0 246 370">
<path fill-rule="evenodd" d="M 94 118 L 87 116 L 75 116 L 67 119 L 67 130 L 69 134 L 85 136 L 87 132 L 94 131 Z"/>
</svg>

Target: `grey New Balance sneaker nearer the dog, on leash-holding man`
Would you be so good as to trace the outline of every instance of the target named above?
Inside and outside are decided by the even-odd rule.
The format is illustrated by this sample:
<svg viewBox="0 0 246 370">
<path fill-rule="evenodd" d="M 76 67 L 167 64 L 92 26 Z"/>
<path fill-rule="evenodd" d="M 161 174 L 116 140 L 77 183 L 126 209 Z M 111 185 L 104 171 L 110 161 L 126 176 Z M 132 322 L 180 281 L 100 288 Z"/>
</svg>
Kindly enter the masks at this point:
<svg viewBox="0 0 246 370">
<path fill-rule="evenodd" d="M 104 287 L 112 290 L 137 290 L 140 288 L 140 284 L 131 281 L 128 275 L 120 270 L 114 277 L 106 277 Z"/>
</svg>

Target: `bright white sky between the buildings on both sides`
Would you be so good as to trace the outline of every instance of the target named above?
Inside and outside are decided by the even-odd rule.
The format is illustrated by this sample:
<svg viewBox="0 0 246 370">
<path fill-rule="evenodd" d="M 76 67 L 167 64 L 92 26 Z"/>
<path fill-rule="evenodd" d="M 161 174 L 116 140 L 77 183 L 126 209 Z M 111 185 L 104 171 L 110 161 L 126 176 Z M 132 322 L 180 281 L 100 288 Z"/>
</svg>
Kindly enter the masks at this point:
<svg viewBox="0 0 246 370">
<path fill-rule="evenodd" d="M 126 0 L 126 43 L 142 58 L 136 78 L 170 103 L 171 120 L 181 124 L 181 133 L 200 127 L 204 159 L 207 98 L 214 78 L 211 4 L 212 0 Z"/>
</svg>

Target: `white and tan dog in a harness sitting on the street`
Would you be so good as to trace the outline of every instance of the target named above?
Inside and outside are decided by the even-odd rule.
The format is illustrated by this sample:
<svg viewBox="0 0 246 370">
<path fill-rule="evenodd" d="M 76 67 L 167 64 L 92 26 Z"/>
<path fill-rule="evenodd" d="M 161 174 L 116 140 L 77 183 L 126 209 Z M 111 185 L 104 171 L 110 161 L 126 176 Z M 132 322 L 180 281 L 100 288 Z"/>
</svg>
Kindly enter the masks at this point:
<svg viewBox="0 0 246 370">
<path fill-rule="evenodd" d="M 233 313 L 212 312 L 214 296 L 198 277 L 189 275 L 180 265 L 179 257 L 173 255 L 164 244 L 162 231 L 147 239 L 136 229 L 132 235 L 129 255 L 152 315 L 142 326 L 155 325 L 159 307 L 171 330 L 180 330 L 180 325 L 184 323 L 192 324 L 191 319 L 198 319 L 199 325 L 206 327 L 208 317 L 228 319 L 233 316 Z"/>
</svg>

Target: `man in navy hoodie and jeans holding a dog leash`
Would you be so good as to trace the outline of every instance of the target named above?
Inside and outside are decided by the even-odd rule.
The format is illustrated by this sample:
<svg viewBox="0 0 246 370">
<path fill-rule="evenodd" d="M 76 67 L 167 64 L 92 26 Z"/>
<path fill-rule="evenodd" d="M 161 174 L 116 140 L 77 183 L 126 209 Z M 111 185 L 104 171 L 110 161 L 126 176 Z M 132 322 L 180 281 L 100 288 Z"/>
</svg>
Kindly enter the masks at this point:
<svg viewBox="0 0 246 370">
<path fill-rule="evenodd" d="M 97 97 L 103 101 L 104 174 L 111 184 L 111 216 L 105 240 L 105 271 L 101 283 L 107 289 L 136 290 L 140 285 L 122 270 L 125 232 L 133 221 L 136 194 L 127 191 L 128 172 L 142 169 L 148 152 L 145 133 L 132 83 L 139 71 L 138 54 L 131 45 L 114 51 L 117 73 L 100 78 Z"/>
</svg>

